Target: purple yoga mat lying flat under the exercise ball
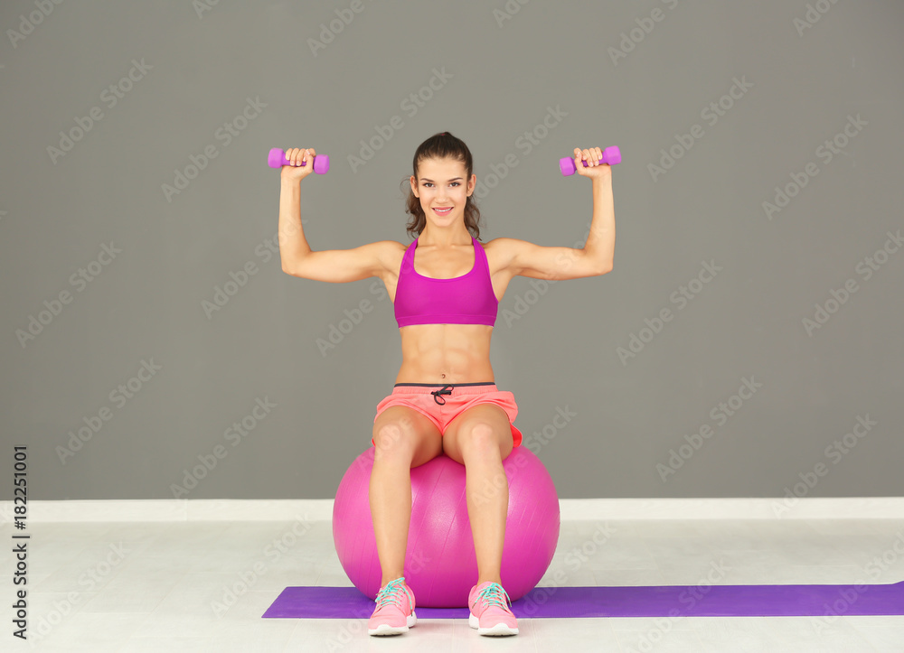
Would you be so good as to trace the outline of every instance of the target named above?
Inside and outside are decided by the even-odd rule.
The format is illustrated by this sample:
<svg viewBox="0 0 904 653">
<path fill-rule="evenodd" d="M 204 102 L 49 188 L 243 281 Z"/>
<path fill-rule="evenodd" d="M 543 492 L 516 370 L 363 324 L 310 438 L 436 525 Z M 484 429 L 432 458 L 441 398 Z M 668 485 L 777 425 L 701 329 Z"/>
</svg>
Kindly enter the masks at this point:
<svg viewBox="0 0 904 653">
<path fill-rule="evenodd" d="M 417 596 L 415 596 L 417 601 Z M 374 602 L 355 587 L 287 587 L 265 619 L 367 619 Z M 904 614 L 904 582 L 886 585 L 662 585 L 535 587 L 515 617 L 808 617 Z M 421 608 L 419 619 L 467 619 L 467 608 Z"/>
</svg>

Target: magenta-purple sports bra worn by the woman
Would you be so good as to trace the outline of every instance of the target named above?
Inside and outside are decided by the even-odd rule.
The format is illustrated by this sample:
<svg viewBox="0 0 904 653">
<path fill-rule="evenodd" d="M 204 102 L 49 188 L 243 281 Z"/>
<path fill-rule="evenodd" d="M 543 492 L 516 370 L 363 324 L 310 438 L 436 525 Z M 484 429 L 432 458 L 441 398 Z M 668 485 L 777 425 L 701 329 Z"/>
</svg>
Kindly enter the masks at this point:
<svg viewBox="0 0 904 653">
<path fill-rule="evenodd" d="M 494 326 L 499 300 L 490 282 L 484 247 L 474 244 L 474 267 L 466 275 L 432 279 L 414 270 L 418 238 L 405 250 L 396 285 L 395 316 L 399 327 L 412 324 L 488 324 Z"/>
</svg>

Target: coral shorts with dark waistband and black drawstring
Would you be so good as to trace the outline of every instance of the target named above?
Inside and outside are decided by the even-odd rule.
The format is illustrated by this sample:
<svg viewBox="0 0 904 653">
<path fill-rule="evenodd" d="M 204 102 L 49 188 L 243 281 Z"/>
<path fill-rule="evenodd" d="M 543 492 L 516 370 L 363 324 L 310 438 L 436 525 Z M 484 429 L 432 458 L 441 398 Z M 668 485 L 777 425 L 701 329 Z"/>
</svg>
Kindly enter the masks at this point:
<svg viewBox="0 0 904 653">
<path fill-rule="evenodd" d="M 523 436 L 513 424 L 518 415 L 518 405 L 511 392 L 500 392 L 494 383 L 462 383 L 436 386 L 428 383 L 397 383 L 392 394 L 377 404 L 377 417 L 390 406 L 408 406 L 437 425 L 440 434 L 446 434 L 449 422 L 466 409 L 480 404 L 495 404 L 508 415 L 512 427 L 512 441 L 521 446 Z M 373 438 L 371 438 L 371 443 Z"/>
</svg>

